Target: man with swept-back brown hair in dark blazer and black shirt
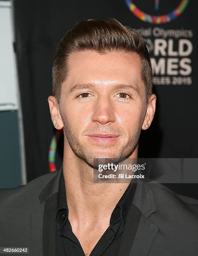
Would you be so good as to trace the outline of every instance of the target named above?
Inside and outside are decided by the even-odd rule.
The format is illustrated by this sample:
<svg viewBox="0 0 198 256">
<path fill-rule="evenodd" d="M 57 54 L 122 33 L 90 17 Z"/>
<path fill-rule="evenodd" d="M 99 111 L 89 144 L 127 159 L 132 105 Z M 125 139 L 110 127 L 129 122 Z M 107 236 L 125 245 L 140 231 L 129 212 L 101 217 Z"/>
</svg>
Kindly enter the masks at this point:
<svg viewBox="0 0 198 256">
<path fill-rule="evenodd" d="M 63 168 L 1 191 L 0 246 L 33 256 L 197 255 L 197 200 L 140 179 L 93 182 L 94 159 L 137 159 L 152 123 L 143 38 L 117 20 L 78 22 L 58 45 L 53 94 Z"/>
</svg>

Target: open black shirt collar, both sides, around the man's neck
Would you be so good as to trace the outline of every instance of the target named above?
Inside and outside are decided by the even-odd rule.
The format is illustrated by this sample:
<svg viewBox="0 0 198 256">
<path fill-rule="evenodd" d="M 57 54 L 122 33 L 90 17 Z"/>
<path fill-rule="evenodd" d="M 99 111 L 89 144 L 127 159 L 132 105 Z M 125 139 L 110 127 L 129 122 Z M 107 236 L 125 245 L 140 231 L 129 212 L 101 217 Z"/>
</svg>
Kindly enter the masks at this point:
<svg viewBox="0 0 198 256">
<path fill-rule="evenodd" d="M 137 185 L 136 182 L 133 182 L 133 179 L 132 179 L 111 214 L 110 225 L 114 225 L 120 220 L 122 222 L 122 225 L 125 225 L 127 213 L 132 204 L 136 185 Z M 60 174 L 56 219 L 60 223 L 60 225 L 58 225 L 59 229 L 64 225 L 64 223 L 68 219 L 68 204 L 66 199 L 63 169 L 61 170 L 61 174 Z"/>
</svg>

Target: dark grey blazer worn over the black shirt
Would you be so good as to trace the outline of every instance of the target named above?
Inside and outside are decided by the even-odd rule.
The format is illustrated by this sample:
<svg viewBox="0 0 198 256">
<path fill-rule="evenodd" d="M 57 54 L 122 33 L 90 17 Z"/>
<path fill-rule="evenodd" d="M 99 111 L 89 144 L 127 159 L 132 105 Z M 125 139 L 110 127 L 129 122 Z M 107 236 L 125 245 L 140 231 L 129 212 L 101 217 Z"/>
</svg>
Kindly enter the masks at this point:
<svg viewBox="0 0 198 256">
<path fill-rule="evenodd" d="M 55 256 L 57 205 L 53 202 L 59 179 L 60 170 L 24 186 L 0 190 L 0 247 L 29 247 L 30 256 Z M 51 202 L 48 209 L 47 200 Z M 177 195 L 162 184 L 138 180 L 133 204 L 142 216 L 130 256 L 198 255 L 198 200 Z M 51 223 L 43 222 L 44 210 L 52 216 Z M 128 222 L 133 222 L 128 214 Z M 130 237 L 127 226 L 125 238 Z"/>
</svg>

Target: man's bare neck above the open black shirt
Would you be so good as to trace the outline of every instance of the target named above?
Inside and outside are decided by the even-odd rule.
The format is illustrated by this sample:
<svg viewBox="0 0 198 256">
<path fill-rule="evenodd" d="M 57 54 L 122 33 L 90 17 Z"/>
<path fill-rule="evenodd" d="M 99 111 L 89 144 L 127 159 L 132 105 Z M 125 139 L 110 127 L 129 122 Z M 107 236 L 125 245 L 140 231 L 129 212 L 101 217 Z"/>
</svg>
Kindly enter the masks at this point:
<svg viewBox="0 0 198 256">
<path fill-rule="evenodd" d="M 137 148 L 130 158 L 137 158 Z M 64 150 L 63 175 L 69 218 L 73 218 L 76 223 L 82 223 L 85 218 L 90 223 L 104 218 L 108 222 L 115 205 L 129 185 L 93 183 L 93 167 L 76 156 L 72 150 Z"/>
</svg>

